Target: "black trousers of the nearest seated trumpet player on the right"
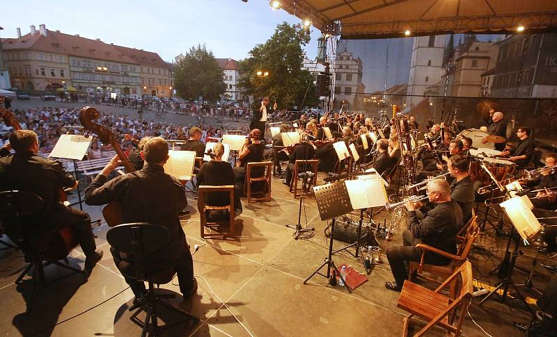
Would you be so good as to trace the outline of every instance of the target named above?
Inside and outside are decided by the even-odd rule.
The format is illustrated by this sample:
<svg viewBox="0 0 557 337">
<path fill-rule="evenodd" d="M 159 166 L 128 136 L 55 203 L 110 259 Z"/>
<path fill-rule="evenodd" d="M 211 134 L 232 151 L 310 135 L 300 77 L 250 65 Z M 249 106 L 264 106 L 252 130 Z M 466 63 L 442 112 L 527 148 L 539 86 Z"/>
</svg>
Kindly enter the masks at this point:
<svg viewBox="0 0 557 337">
<path fill-rule="evenodd" d="M 414 238 L 412 232 L 407 229 L 402 233 L 403 246 L 395 246 L 386 250 L 387 260 L 389 260 L 391 272 L 393 272 L 393 277 L 395 277 L 398 286 L 402 287 L 405 279 L 408 279 L 408 268 L 405 262 L 419 262 L 421 259 L 423 250 L 416 247 L 417 243 L 421 243 L 421 240 Z M 448 261 L 446 258 L 437 254 L 425 254 L 425 263 L 446 265 Z"/>
</svg>

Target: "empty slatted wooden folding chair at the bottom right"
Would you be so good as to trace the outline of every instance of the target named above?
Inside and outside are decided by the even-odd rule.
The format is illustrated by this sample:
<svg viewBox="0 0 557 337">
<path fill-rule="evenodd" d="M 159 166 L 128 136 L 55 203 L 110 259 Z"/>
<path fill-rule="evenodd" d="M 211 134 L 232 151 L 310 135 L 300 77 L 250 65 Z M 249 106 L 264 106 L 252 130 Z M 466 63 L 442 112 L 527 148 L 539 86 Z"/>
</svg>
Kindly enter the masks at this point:
<svg viewBox="0 0 557 337">
<path fill-rule="evenodd" d="M 456 286 L 452 286 L 460 276 L 460 290 Z M 441 290 L 446 286 L 450 286 L 450 296 L 442 295 Z M 462 263 L 453 274 L 448 277 L 437 289 L 430 290 L 422 286 L 418 286 L 411 281 L 405 281 L 402 286 L 397 306 L 410 314 L 402 321 L 404 330 L 402 336 L 407 336 L 410 318 L 414 315 L 427 321 L 423 327 L 414 336 L 424 336 L 425 333 L 435 325 L 442 327 L 460 336 L 462 321 L 473 294 L 472 265 L 469 261 Z M 457 324 L 453 324 L 457 309 L 460 306 Z"/>
</svg>

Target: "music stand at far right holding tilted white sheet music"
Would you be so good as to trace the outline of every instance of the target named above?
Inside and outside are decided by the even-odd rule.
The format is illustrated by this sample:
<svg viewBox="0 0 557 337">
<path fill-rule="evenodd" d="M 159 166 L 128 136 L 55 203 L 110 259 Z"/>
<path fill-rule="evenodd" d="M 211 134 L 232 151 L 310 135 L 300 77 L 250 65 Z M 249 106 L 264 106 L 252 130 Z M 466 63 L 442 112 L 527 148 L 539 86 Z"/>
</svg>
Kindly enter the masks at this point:
<svg viewBox="0 0 557 337">
<path fill-rule="evenodd" d="M 519 255 L 520 239 L 524 240 L 524 244 L 527 245 L 527 240 L 533 238 L 540 231 L 540 229 L 542 229 L 540 222 L 538 222 L 538 219 L 536 219 L 535 215 L 532 213 L 526 199 L 528 198 L 525 196 L 512 197 L 500 204 L 501 208 L 503 208 L 503 211 L 505 211 L 505 214 L 513 225 L 510 237 L 512 238 L 513 234 L 516 232 L 519 234 L 520 238 L 515 240 L 515 249 L 513 249 L 512 258 L 510 258 L 510 265 L 505 279 L 503 279 L 503 281 L 501 281 L 491 293 L 487 294 L 487 296 L 480 301 L 480 305 L 483 304 L 483 302 L 485 302 L 489 297 L 492 297 L 492 295 L 497 293 L 497 291 L 501 288 L 503 288 L 503 295 L 501 295 L 500 298 L 504 301 L 507 299 L 509 286 L 512 286 L 512 288 L 515 289 L 517 297 L 524 303 L 524 305 L 526 305 L 526 308 L 534 314 L 532 308 L 528 305 L 526 299 L 524 299 L 524 296 L 520 293 L 520 290 L 518 290 L 517 285 L 512 281 L 512 271 L 514 270 L 517 256 Z"/>
</svg>

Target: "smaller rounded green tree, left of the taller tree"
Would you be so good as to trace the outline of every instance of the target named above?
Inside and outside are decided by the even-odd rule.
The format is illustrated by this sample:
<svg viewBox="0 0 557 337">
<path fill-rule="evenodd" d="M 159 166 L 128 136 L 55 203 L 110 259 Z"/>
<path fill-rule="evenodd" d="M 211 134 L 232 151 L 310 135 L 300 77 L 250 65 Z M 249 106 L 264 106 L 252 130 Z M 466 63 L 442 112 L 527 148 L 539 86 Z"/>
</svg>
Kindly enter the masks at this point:
<svg viewBox="0 0 557 337">
<path fill-rule="evenodd" d="M 226 90 L 223 72 L 212 51 L 205 44 L 191 47 L 187 54 L 178 60 L 175 71 L 175 89 L 183 99 L 218 100 Z"/>
</svg>

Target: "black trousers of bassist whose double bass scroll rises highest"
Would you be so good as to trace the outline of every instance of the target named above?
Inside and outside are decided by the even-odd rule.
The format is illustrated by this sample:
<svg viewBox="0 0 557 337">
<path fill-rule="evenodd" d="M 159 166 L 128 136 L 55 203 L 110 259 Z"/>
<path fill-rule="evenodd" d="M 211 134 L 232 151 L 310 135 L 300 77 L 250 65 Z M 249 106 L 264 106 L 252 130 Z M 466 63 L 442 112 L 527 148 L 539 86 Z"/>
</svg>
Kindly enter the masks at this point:
<svg viewBox="0 0 557 337">
<path fill-rule="evenodd" d="M 112 254 L 112 258 L 114 259 L 114 264 L 116 264 L 116 267 L 122 273 L 125 281 L 130 285 L 130 288 L 132 288 L 134 295 L 136 295 L 136 297 L 145 295 L 147 292 L 145 283 L 132 277 L 135 274 L 133 257 L 125 256 L 125 254 L 118 252 L 112 247 L 110 248 L 110 252 Z M 176 274 L 178 274 L 180 293 L 182 293 L 182 295 L 189 294 L 191 288 L 194 286 L 194 260 L 191 258 L 191 253 L 187 247 L 178 259 L 178 263 L 174 265 L 174 270 L 176 271 Z"/>
</svg>

